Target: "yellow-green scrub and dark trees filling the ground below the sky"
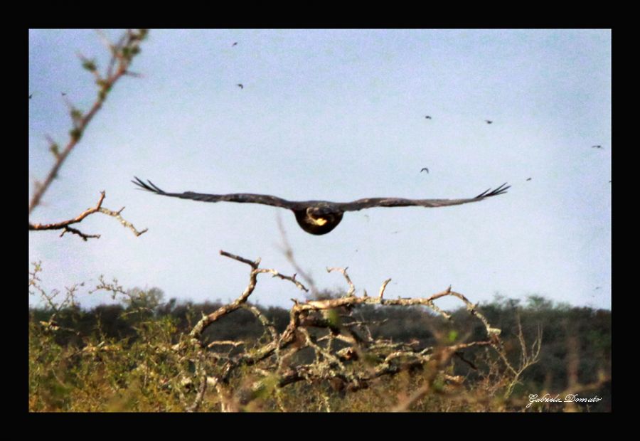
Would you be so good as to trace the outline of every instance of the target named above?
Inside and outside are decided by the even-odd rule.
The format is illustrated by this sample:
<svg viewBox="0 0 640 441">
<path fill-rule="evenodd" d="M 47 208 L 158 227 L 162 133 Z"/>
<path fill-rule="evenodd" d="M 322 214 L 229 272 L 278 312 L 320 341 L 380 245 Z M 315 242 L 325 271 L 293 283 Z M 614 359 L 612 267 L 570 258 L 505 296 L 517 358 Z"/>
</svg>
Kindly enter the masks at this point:
<svg viewBox="0 0 640 441">
<path fill-rule="evenodd" d="M 261 358 L 274 335 L 287 331 L 290 311 L 247 304 L 207 326 L 200 344 L 193 345 L 196 324 L 228 305 L 162 303 L 159 289 L 118 288 L 127 294 L 122 304 L 90 311 L 73 302 L 31 309 L 30 410 L 501 412 L 611 406 L 606 311 L 554 305 L 541 297 L 530 297 L 524 306 L 511 299 L 484 304 L 478 310 L 503 330 L 496 346 L 503 359 L 491 344 L 469 345 L 483 341 L 486 329 L 468 306 L 445 319 L 423 306 L 358 304 L 321 311 L 311 323 L 316 326 L 297 329 L 292 343 L 282 345 L 283 354 Z M 324 293 L 318 301 L 353 299 L 346 294 Z M 341 341 L 347 328 L 383 345 Z M 385 375 L 373 375 L 390 360 Z M 545 393 L 602 399 L 526 407 L 530 394 Z"/>
</svg>

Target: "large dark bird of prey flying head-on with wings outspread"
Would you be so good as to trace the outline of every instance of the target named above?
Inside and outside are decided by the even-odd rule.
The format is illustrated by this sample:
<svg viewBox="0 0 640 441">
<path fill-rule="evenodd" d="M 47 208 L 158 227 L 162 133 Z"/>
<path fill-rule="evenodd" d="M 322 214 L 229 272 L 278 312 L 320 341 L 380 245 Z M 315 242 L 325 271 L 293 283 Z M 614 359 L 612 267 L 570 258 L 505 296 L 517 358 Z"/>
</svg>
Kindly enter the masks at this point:
<svg viewBox="0 0 640 441">
<path fill-rule="evenodd" d="M 364 208 L 374 207 L 446 207 L 451 205 L 460 205 L 462 203 L 482 201 L 484 198 L 490 198 L 491 196 L 498 196 L 498 194 L 505 193 L 509 188 L 505 183 L 495 190 L 491 190 L 491 188 L 489 188 L 489 190 L 483 191 L 475 198 L 467 199 L 365 198 L 358 199 L 353 202 L 287 201 L 282 198 L 277 198 L 276 196 L 252 193 L 207 194 L 194 193 L 193 191 L 186 191 L 184 193 L 166 193 L 166 191 L 161 190 L 151 181 L 146 181 L 147 184 L 145 184 L 137 177 L 134 176 L 134 178 L 135 181 L 132 182 L 137 186 L 162 196 L 193 199 L 193 201 L 202 202 L 228 201 L 262 203 L 263 205 L 287 208 L 293 211 L 300 228 L 305 230 L 307 233 L 315 235 L 326 234 L 336 228 L 338 223 L 342 221 L 342 216 L 345 211 L 358 211 L 363 210 Z"/>
</svg>

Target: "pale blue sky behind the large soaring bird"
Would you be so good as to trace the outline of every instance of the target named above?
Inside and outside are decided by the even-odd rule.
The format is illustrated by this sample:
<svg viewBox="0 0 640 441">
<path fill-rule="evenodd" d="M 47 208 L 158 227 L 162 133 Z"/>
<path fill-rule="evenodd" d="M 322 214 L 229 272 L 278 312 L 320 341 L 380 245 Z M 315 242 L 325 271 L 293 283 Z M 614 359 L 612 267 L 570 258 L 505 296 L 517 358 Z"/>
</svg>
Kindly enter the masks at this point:
<svg viewBox="0 0 640 441">
<path fill-rule="evenodd" d="M 60 92 L 85 110 L 96 94 L 78 52 L 105 66 L 94 31 L 29 32 L 30 196 L 53 164 L 45 135 L 68 139 Z M 46 287 L 105 275 L 167 299 L 233 299 L 248 267 L 219 250 L 294 272 L 279 212 L 320 288 L 344 287 L 325 268 L 348 266 L 359 292 L 391 277 L 389 297 L 452 285 L 474 302 L 499 292 L 611 307 L 609 30 L 151 30 L 132 70 L 144 78 L 115 85 L 31 221 L 77 216 L 105 190 L 107 208 L 126 206 L 149 231 L 136 238 L 95 215 L 80 229 L 99 240 L 30 233 L 29 262 L 42 260 Z M 288 211 L 154 196 L 134 175 L 166 191 L 292 200 L 512 187 L 464 206 L 346 213 L 314 236 Z M 292 297 L 304 298 L 262 277 L 252 299 L 288 307 Z"/>
</svg>

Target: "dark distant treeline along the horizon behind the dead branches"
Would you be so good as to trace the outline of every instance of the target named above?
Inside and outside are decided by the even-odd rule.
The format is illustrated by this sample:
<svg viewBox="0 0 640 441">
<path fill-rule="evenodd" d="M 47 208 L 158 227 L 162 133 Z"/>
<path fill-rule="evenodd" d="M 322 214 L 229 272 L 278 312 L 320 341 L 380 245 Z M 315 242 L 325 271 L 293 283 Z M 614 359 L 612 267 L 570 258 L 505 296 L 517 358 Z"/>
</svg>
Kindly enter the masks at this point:
<svg viewBox="0 0 640 441">
<path fill-rule="evenodd" d="M 171 319 L 176 329 L 188 331 L 202 317 L 222 303 L 177 302 L 170 299 L 162 303 L 164 293 L 159 288 L 134 288 L 127 292 L 122 304 L 100 305 L 84 310 L 69 307 L 58 312 L 56 322 L 63 329 L 75 329 L 82 336 L 90 336 L 99 331 L 109 339 L 127 339 L 132 344 L 139 338 L 140 322 L 149 319 Z M 340 297 L 342 292 L 331 294 L 323 292 L 322 298 Z M 524 303 L 524 306 L 521 306 Z M 289 322 L 289 311 L 279 307 L 257 307 L 274 324 L 277 331 L 283 331 Z M 506 297 L 496 297 L 493 302 L 479 307 L 487 319 L 503 329 L 502 339 L 506 349 L 518 345 L 516 330 L 518 317 L 527 341 L 535 339 L 538 326 L 543 330 L 543 344 L 540 361 L 530 367 L 524 386 L 528 390 L 564 390 L 567 387 L 570 369 L 567 361 L 577 355 L 579 381 L 592 383 L 602 371 L 611 371 L 611 312 L 587 307 L 570 307 L 567 304 L 554 304 L 540 296 L 530 296 L 526 302 Z M 374 337 L 384 337 L 390 341 L 417 341 L 422 345 L 433 344 L 437 338 L 476 339 L 482 336 L 483 329 L 464 308 L 452 312 L 453 324 L 441 317 L 429 314 L 421 307 L 382 308 L 363 305 L 356 308 L 356 317 L 370 322 L 369 329 Z M 33 322 L 47 322 L 53 312 L 46 308 L 32 308 Z M 257 341 L 264 329 L 247 310 L 240 310 L 220 319 L 203 333 L 204 341 Z M 55 334 L 58 344 L 80 344 L 73 332 Z M 577 345 L 575 344 L 577 342 Z M 471 365 L 481 363 L 480 351 L 471 351 L 466 356 L 469 363 L 457 363 L 461 375 L 473 379 L 476 371 Z M 610 397 L 605 407 L 610 406 Z"/>
</svg>

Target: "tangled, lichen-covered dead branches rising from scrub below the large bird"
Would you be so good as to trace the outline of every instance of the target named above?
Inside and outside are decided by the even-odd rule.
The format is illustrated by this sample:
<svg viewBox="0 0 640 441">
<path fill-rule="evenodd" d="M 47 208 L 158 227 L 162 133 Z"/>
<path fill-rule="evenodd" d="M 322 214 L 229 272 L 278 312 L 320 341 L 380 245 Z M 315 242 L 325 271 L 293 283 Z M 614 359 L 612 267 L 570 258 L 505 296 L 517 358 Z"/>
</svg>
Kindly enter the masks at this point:
<svg viewBox="0 0 640 441">
<path fill-rule="evenodd" d="M 206 376 L 205 383 L 215 385 L 222 410 L 242 408 L 242 405 L 247 405 L 255 399 L 257 394 L 264 392 L 265 388 L 271 390 L 276 398 L 280 388 L 299 381 L 331 381 L 340 388 L 353 391 L 368 388 L 377 378 L 395 376 L 407 369 L 422 368 L 426 372 L 424 386 L 399 403 L 395 409 L 406 410 L 412 403 L 432 392 L 435 381 L 456 385 L 462 383 L 464 378 L 452 376 L 446 372 L 446 368 L 450 366 L 453 356 L 466 361 L 464 351 L 474 346 L 493 348 L 500 354 L 508 370 L 515 371 L 503 353 L 499 339 L 500 329 L 491 327 L 486 317 L 477 309 L 477 305 L 469 302 L 463 294 L 452 291 L 451 287 L 430 297 L 385 299 L 384 292 L 389 279 L 383 282 L 378 297 L 369 297 L 366 292 L 358 296 L 346 268 L 327 268 L 329 272 L 341 272 L 349 287 L 346 296 L 312 299 L 306 302 L 295 300 L 289 311 L 289 324 L 279 333 L 259 309 L 247 303 L 255 290 L 257 275 L 271 274 L 272 277 L 294 283 L 304 292 L 307 291 L 306 287 L 295 280 L 295 277 L 282 275 L 277 270 L 260 268 L 260 259 L 249 260 L 226 251 L 220 251 L 220 255 L 249 265 L 249 283 L 235 301 L 219 307 L 210 314 L 203 314 L 201 320 L 193 326 L 189 339 L 174 345 L 173 349 L 178 352 L 196 349 L 210 357 L 210 361 L 214 361 L 213 365 L 199 364 L 198 366 L 206 368 L 202 367 L 205 373 L 201 371 L 198 376 Z M 369 323 L 356 320 L 352 315 L 354 308 L 366 304 L 382 307 L 422 306 L 444 319 L 451 320 L 450 314 L 434 304 L 435 300 L 443 297 L 457 297 L 462 300 L 469 313 L 484 325 L 486 340 L 458 341 L 456 344 L 440 341 L 435 346 L 426 347 L 420 346 L 418 341 L 409 344 L 393 343 L 373 338 L 368 331 Z M 203 332 L 208 326 L 238 309 L 247 309 L 254 314 L 265 328 L 267 341 L 262 340 L 255 346 L 251 346 L 249 342 L 229 340 L 203 344 Z M 315 354 L 314 361 L 292 362 L 292 357 L 304 349 Z M 240 395 L 236 396 L 230 392 L 230 382 L 234 373 L 242 366 L 255 366 L 254 372 L 259 373 L 262 379 L 245 385 L 244 390 L 238 392 Z M 203 388 L 205 386 L 201 386 L 200 390 Z M 198 393 L 198 397 L 196 401 L 200 403 L 202 394 Z M 195 403 L 190 407 L 193 408 L 197 408 Z"/>
</svg>

